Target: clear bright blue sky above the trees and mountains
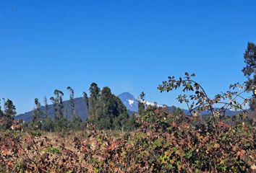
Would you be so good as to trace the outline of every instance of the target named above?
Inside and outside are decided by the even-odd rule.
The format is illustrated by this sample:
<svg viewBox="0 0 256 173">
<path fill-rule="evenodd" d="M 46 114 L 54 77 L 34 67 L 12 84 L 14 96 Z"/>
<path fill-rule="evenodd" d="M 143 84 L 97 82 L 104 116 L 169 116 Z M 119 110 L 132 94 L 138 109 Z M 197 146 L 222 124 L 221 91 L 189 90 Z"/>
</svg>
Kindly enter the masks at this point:
<svg viewBox="0 0 256 173">
<path fill-rule="evenodd" d="M 0 2 L 0 97 L 17 112 L 33 99 L 91 82 L 114 94 L 146 93 L 150 102 L 178 105 L 156 87 L 189 71 L 211 96 L 244 81 L 243 53 L 256 42 L 256 1 Z"/>
</svg>

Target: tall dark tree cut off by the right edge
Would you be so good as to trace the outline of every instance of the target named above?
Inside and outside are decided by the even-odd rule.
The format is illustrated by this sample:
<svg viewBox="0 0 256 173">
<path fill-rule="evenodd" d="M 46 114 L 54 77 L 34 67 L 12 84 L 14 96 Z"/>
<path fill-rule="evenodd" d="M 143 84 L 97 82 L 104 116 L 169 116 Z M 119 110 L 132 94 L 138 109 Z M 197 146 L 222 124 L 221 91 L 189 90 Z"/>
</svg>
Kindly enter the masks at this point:
<svg viewBox="0 0 256 173">
<path fill-rule="evenodd" d="M 246 66 L 243 68 L 244 76 L 247 77 L 246 86 L 247 92 L 252 92 L 252 110 L 256 108 L 256 45 L 248 43 L 247 50 L 244 53 L 244 63 Z"/>
</svg>

